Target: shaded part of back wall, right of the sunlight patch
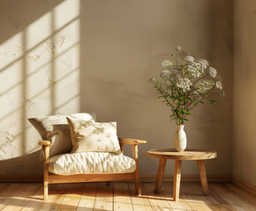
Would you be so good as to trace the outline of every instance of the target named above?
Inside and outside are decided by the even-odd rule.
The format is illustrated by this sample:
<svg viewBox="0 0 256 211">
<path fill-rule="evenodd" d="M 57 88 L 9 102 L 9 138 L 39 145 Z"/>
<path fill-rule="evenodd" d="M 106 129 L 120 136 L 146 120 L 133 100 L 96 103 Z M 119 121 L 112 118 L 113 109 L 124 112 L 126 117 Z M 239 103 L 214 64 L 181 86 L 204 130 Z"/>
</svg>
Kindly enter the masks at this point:
<svg viewBox="0 0 256 211">
<path fill-rule="evenodd" d="M 225 98 L 199 106 L 185 126 L 188 148 L 215 149 L 209 174 L 231 173 L 232 1 L 84 1 L 81 4 L 81 109 L 117 120 L 118 135 L 147 140 L 139 146 L 140 172 L 155 174 L 147 149 L 173 147 L 175 123 L 150 77 L 177 45 L 204 57 L 222 75 Z M 166 173 L 173 173 L 169 161 Z M 197 174 L 195 162 L 184 162 Z"/>
</svg>

